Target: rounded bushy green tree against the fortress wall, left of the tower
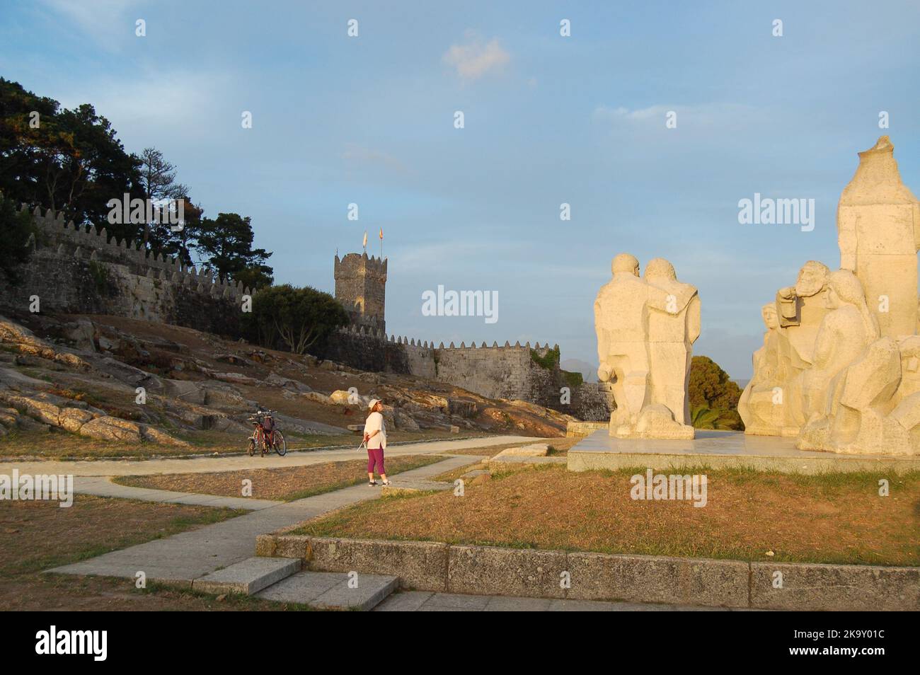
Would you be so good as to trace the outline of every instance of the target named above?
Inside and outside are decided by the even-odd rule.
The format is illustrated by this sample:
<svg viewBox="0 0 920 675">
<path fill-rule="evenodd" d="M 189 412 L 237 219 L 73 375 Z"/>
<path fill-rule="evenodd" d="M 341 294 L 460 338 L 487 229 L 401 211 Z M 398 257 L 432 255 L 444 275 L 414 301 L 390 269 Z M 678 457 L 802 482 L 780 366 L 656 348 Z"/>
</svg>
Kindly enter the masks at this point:
<svg viewBox="0 0 920 675">
<path fill-rule="evenodd" d="M 291 284 L 259 291 L 253 298 L 252 317 L 263 346 L 273 347 L 281 339 L 297 354 L 349 323 L 344 307 L 331 295 Z"/>
</svg>

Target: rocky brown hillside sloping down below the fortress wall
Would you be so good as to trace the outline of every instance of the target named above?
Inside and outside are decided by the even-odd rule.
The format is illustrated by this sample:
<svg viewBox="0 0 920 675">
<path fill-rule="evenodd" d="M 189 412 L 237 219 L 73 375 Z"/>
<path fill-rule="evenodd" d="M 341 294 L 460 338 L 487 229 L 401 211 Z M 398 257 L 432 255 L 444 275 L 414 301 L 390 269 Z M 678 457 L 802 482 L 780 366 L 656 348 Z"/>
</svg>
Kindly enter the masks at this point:
<svg viewBox="0 0 920 675">
<path fill-rule="evenodd" d="M 351 442 L 366 402 L 397 438 L 460 433 L 561 436 L 569 416 L 408 375 L 361 372 L 200 331 L 103 315 L 0 317 L 0 436 L 63 432 L 133 448 L 232 443 L 259 408 L 291 447 Z M 346 437 L 346 438 L 342 438 Z M 204 445 L 208 445 L 205 443 Z M 210 449 L 209 445 L 209 449 Z M 0 452 L 15 453 L 0 442 Z M 143 452 L 143 451 L 142 451 Z"/>
</svg>

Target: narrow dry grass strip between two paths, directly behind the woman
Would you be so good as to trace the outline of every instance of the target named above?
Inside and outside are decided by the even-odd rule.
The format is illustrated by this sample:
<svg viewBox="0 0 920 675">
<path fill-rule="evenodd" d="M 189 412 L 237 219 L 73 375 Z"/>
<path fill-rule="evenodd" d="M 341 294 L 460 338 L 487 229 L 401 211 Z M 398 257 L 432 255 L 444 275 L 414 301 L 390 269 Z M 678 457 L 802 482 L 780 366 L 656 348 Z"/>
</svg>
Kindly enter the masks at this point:
<svg viewBox="0 0 920 675">
<path fill-rule="evenodd" d="M 441 462 L 440 455 L 401 455 L 386 458 L 387 475 Z M 126 475 L 115 478 L 123 486 L 152 487 L 202 495 L 241 497 L 244 480 L 252 481 L 252 497 L 292 501 L 367 482 L 367 460 L 348 460 L 291 466 L 282 469 L 247 469 L 214 474 Z"/>
</svg>

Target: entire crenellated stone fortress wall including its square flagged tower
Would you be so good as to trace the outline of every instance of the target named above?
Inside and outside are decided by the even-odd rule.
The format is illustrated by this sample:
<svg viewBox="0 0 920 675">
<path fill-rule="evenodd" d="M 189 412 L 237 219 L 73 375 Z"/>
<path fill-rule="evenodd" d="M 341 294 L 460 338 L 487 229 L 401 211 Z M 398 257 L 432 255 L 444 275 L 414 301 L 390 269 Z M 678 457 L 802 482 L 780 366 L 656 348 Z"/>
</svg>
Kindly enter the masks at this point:
<svg viewBox="0 0 920 675">
<path fill-rule="evenodd" d="M 26 207 L 20 207 L 25 211 Z M 40 236 L 15 286 L 0 291 L 0 304 L 28 311 L 118 315 L 189 326 L 224 336 L 240 332 L 244 296 L 254 292 L 212 272 L 159 256 L 142 242 L 118 241 L 105 229 L 79 227 L 63 214 L 33 212 Z M 387 260 L 351 253 L 335 257 L 336 298 L 351 318 L 318 354 L 364 371 L 397 372 L 462 387 L 488 398 L 519 399 L 581 418 L 605 419 L 613 400 L 600 383 L 571 386 L 558 364 L 546 367 L 548 343 L 533 348 L 505 343 L 466 346 L 386 336 Z M 558 348 L 557 348 L 558 349 Z M 569 386 L 570 402 L 560 389 Z"/>
</svg>

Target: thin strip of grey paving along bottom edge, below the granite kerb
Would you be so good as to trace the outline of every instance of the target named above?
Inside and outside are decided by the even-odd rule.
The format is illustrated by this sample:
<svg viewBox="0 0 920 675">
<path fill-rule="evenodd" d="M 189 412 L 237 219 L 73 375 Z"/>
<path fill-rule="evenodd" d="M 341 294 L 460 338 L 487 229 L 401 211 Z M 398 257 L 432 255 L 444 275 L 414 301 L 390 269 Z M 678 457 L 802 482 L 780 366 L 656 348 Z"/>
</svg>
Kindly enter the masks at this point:
<svg viewBox="0 0 920 675">
<path fill-rule="evenodd" d="M 374 612 L 729 612 L 722 607 L 512 598 L 500 595 L 459 595 L 409 590 L 394 593 Z"/>
</svg>

